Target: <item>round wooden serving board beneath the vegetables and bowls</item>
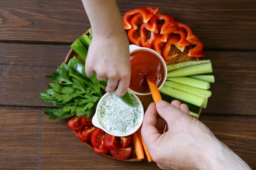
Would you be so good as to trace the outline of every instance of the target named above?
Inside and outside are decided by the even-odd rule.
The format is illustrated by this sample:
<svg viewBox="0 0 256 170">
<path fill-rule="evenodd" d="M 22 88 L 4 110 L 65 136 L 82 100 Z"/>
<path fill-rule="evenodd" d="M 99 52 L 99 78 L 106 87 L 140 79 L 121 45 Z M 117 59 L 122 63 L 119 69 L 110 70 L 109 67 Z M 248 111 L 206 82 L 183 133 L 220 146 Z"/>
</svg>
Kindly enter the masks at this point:
<svg viewBox="0 0 256 170">
<path fill-rule="evenodd" d="M 85 35 L 89 35 L 89 32 L 86 31 L 84 34 L 85 34 Z M 187 56 L 187 54 L 189 54 L 188 51 L 189 51 L 190 48 L 192 48 L 192 46 L 186 47 L 185 50 L 184 50 L 184 52 L 181 53 L 180 50 L 178 50 L 174 45 L 172 45 L 172 48 L 171 48 L 171 50 L 170 50 L 170 52 L 169 52 L 169 55 L 170 55 L 170 56 L 171 56 L 172 54 L 179 54 L 179 55 L 177 55 L 175 58 L 173 58 L 173 59 L 170 61 L 170 63 L 184 62 L 184 61 L 190 61 L 190 60 L 199 60 L 198 57 L 189 57 L 189 56 Z M 76 54 L 76 52 L 73 51 L 73 49 L 71 48 L 70 51 L 69 51 L 69 53 L 67 54 L 67 57 L 66 57 L 66 59 L 65 59 L 64 62 L 68 63 L 69 60 L 70 60 L 74 55 L 75 55 L 76 57 L 78 57 L 79 59 L 81 59 L 81 57 L 80 57 L 78 54 Z M 81 60 L 84 61 L 83 59 L 81 59 Z M 140 95 L 137 95 L 137 96 L 140 98 L 140 100 L 141 100 L 141 102 L 142 102 L 142 104 L 143 104 L 144 111 L 147 110 L 148 105 L 149 105 L 150 103 L 154 102 L 151 95 L 147 95 L 147 96 L 140 96 Z M 201 110 L 200 110 L 199 116 L 200 116 L 200 114 L 201 114 Z M 76 134 L 76 131 L 73 130 L 73 132 Z M 77 136 L 77 135 L 76 135 L 76 136 Z M 90 149 L 93 149 L 93 146 L 92 146 L 92 144 L 91 144 L 90 142 L 84 143 L 84 144 L 85 144 L 87 147 L 89 147 Z M 111 156 L 110 153 L 108 153 L 108 154 L 106 154 L 106 155 L 103 155 L 103 156 L 106 156 L 106 157 L 108 157 L 108 158 L 110 158 L 110 159 L 115 159 L 115 158 L 113 158 L 113 156 Z M 118 160 L 118 159 L 116 159 L 116 160 Z M 125 159 L 125 160 L 122 160 L 122 161 L 137 162 L 137 161 L 143 161 L 143 160 L 146 160 L 146 159 L 137 159 L 135 150 L 134 150 L 134 148 L 133 148 L 133 151 L 132 151 L 132 153 L 131 153 L 131 156 L 129 156 L 128 159 Z"/>
</svg>

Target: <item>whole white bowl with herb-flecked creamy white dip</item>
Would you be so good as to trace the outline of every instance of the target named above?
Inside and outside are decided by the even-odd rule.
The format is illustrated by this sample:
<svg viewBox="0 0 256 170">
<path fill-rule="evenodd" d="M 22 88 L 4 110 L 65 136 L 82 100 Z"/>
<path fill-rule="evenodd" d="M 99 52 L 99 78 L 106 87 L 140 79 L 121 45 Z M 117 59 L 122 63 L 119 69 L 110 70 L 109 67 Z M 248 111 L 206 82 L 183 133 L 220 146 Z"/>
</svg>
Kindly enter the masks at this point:
<svg viewBox="0 0 256 170">
<path fill-rule="evenodd" d="M 114 93 L 102 96 L 93 116 L 93 125 L 113 136 L 129 136 L 136 132 L 142 125 L 144 109 L 140 99 L 133 93 L 129 94 L 134 107 Z"/>
</svg>

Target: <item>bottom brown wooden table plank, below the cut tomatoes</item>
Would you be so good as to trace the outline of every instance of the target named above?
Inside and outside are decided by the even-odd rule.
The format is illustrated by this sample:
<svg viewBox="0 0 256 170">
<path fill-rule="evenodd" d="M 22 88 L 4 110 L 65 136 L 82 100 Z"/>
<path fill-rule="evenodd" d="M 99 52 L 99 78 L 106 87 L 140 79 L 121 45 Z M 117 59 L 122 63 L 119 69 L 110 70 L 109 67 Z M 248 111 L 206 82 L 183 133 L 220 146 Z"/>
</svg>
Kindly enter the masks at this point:
<svg viewBox="0 0 256 170">
<path fill-rule="evenodd" d="M 43 109 L 2 107 L 0 113 L 1 170 L 159 169 L 146 161 L 127 163 L 94 153 L 76 138 L 65 121 L 49 120 Z M 255 117 L 201 115 L 201 121 L 252 169 L 256 168 Z"/>
</svg>

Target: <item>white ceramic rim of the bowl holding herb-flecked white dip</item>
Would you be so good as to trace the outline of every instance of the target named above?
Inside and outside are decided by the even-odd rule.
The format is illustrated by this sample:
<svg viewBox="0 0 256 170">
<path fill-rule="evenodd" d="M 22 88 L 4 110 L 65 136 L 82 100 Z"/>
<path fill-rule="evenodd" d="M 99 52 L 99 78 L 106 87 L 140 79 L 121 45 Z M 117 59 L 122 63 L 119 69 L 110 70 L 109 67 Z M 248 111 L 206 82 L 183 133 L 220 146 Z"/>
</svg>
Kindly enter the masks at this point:
<svg viewBox="0 0 256 170">
<path fill-rule="evenodd" d="M 100 121 L 101 121 L 101 116 L 100 116 L 100 113 L 99 113 L 99 109 L 100 109 L 100 105 L 102 104 L 102 101 L 105 97 L 107 97 L 108 95 L 110 95 L 109 93 L 106 93 L 104 96 L 102 96 L 102 98 L 99 100 L 99 103 L 97 105 L 97 108 L 96 108 L 96 112 L 93 116 L 93 120 L 92 120 L 92 123 L 95 127 L 99 127 L 100 129 L 104 130 L 106 133 L 108 134 L 111 134 L 113 136 L 129 136 L 133 133 L 135 133 L 139 128 L 140 126 L 142 125 L 142 122 L 143 122 L 143 118 L 144 118 L 144 109 L 143 109 L 143 105 L 142 105 L 142 102 L 140 101 L 140 99 L 135 95 L 135 94 L 132 94 L 131 92 L 128 92 L 130 95 L 133 95 L 138 103 L 139 103 L 139 107 L 140 107 L 140 111 L 141 111 L 141 116 L 140 116 L 140 120 L 139 120 L 139 124 L 137 125 L 136 128 L 134 128 L 134 130 L 132 130 L 131 132 L 129 133 L 125 133 L 125 134 L 116 134 L 116 133 L 111 133 L 110 131 L 108 131 L 105 127 L 103 127 L 101 124 L 100 124 Z"/>
</svg>

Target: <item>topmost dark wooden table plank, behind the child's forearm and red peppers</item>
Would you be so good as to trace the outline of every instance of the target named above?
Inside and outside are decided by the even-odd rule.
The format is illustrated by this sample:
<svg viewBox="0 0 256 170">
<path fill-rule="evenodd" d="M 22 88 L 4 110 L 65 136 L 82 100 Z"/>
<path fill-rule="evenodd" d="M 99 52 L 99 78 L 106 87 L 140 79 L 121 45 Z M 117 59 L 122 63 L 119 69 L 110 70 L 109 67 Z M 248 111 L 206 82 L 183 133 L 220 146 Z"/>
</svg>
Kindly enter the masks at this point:
<svg viewBox="0 0 256 170">
<path fill-rule="evenodd" d="M 118 0 L 121 14 L 138 7 L 190 26 L 207 49 L 256 49 L 255 0 Z M 1 0 L 0 41 L 71 44 L 90 28 L 81 0 Z"/>
</svg>

